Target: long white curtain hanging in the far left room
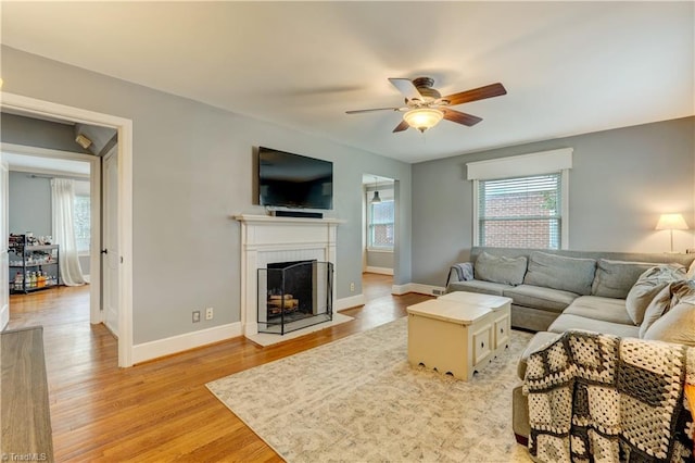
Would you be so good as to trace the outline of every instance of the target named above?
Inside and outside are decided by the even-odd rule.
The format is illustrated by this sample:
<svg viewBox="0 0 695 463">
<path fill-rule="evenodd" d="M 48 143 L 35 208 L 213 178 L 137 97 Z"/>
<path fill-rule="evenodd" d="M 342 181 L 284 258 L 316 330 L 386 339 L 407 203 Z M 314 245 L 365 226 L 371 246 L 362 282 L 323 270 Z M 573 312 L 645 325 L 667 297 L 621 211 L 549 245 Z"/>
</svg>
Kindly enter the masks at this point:
<svg viewBox="0 0 695 463">
<path fill-rule="evenodd" d="M 60 246 L 59 270 L 65 286 L 84 285 L 85 277 L 79 266 L 75 241 L 74 201 L 75 183 L 65 178 L 51 179 L 51 204 L 53 207 L 53 241 Z"/>
</svg>

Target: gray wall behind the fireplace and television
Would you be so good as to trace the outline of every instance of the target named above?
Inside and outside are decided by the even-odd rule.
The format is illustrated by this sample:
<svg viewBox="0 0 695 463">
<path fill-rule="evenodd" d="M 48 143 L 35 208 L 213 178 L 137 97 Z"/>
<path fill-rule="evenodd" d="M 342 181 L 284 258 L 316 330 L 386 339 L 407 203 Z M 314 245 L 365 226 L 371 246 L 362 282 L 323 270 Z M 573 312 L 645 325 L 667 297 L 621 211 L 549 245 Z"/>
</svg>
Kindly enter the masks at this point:
<svg viewBox="0 0 695 463">
<path fill-rule="evenodd" d="M 361 291 L 362 175 L 397 178 L 396 281 L 410 280 L 410 166 L 2 47 L 3 90 L 132 120 L 134 340 L 167 338 L 240 320 L 240 225 L 252 201 L 252 147 L 268 146 L 334 167 L 338 298 Z M 350 291 L 350 283 L 356 291 Z M 191 324 L 191 311 L 215 318 Z"/>
</svg>

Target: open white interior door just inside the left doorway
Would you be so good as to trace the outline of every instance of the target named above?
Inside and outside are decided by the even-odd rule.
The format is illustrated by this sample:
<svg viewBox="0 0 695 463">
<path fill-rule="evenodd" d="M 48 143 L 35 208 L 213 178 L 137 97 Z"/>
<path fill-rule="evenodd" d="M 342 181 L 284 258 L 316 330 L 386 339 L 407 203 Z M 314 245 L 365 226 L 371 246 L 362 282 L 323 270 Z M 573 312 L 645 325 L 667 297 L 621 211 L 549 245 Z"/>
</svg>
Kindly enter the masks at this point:
<svg viewBox="0 0 695 463">
<path fill-rule="evenodd" d="M 118 336 L 118 150 L 103 162 L 103 308 L 104 324 Z"/>
</svg>

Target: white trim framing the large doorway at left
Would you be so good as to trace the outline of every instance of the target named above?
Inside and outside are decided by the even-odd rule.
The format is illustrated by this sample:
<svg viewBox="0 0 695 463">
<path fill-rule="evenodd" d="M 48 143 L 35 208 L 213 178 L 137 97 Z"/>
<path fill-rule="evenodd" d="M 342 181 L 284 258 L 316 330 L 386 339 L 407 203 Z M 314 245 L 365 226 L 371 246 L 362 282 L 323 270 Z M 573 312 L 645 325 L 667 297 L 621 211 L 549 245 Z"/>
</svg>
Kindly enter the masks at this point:
<svg viewBox="0 0 695 463">
<path fill-rule="evenodd" d="M 117 130 L 117 242 L 118 255 L 116 258 L 118 270 L 118 366 L 132 365 L 132 122 L 118 116 L 91 112 L 74 107 L 37 100 L 18 95 L 0 92 L 2 109 L 20 111 L 26 114 L 50 116 L 62 121 L 73 121 L 83 124 L 113 127 Z M 7 201 L 7 195 L 3 195 Z M 7 202 L 5 202 L 7 204 Z M 7 210 L 5 208 L 3 208 Z M 5 239 L 4 237 L 3 239 Z M 94 240 L 99 242 L 99 240 Z M 99 249 L 96 258 L 100 259 Z M 99 261 L 98 261 L 99 262 Z M 99 267 L 99 264 L 96 265 Z M 91 268 L 93 273 L 97 268 Z M 98 271 L 98 270 L 97 270 Z M 7 263 L 0 272 L 8 274 Z M 2 305 L 2 301 L 0 301 Z M 100 303 L 90 304 L 92 312 L 90 320 L 99 320 Z M 96 313 L 94 313 L 96 311 Z"/>
</svg>

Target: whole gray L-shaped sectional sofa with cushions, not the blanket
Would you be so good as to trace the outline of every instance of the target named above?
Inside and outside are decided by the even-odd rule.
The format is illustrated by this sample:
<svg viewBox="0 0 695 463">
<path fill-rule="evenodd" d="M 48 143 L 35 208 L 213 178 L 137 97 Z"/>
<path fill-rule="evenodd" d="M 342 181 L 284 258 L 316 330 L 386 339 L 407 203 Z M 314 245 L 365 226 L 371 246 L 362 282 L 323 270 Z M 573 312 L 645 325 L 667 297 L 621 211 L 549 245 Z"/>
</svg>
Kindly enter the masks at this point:
<svg viewBox="0 0 695 463">
<path fill-rule="evenodd" d="M 513 299 L 511 326 L 538 331 L 518 363 L 567 330 L 695 346 L 695 254 L 645 254 L 473 248 L 454 265 L 446 291 Z M 521 384 L 513 396 L 513 427 L 529 436 Z"/>
</svg>

